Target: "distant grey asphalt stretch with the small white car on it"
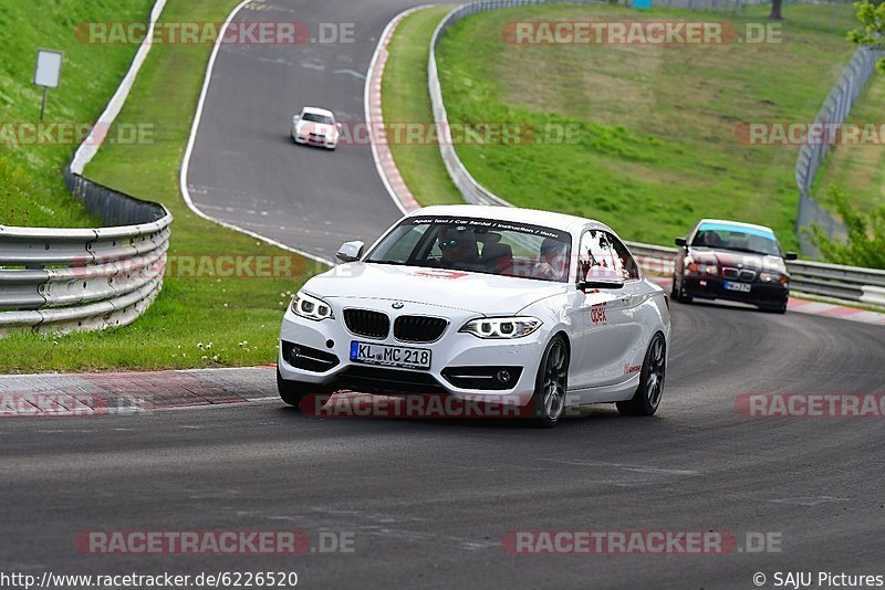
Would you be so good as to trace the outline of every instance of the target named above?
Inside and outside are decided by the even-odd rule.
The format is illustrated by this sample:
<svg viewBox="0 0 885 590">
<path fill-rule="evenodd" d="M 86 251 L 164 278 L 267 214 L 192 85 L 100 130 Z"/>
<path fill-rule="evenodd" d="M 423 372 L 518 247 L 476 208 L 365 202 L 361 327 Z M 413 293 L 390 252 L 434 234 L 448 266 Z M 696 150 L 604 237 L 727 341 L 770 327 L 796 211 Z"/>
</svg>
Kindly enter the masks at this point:
<svg viewBox="0 0 885 590">
<path fill-rule="evenodd" d="M 305 105 L 333 110 L 348 128 L 365 122 L 365 75 L 378 38 L 397 13 L 416 3 L 247 4 L 237 21 L 301 21 L 314 32 L 320 23 L 343 24 L 340 30 L 352 30 L 354 42 L 222 45 L 187 178 L 195 204 L 325 260 L 347 240 L 373 242 L 399 219 L 368 145 L 326 151 L 298 146 L 289 134 L 292 115 Z"/>
</svg>

